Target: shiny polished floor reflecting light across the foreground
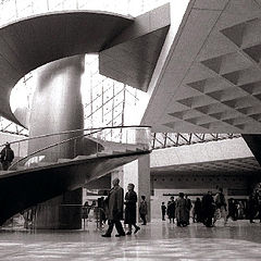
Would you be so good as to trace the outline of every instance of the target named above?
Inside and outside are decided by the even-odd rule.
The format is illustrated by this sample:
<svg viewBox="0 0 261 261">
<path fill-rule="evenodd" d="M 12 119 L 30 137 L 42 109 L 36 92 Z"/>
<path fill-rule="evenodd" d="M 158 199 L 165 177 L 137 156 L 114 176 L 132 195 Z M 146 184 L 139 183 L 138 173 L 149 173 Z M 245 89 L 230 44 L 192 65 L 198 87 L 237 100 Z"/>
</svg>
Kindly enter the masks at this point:
<svg viewBox="0 0 261 261">
<path fill-rule="evenodd" d="M 0 260 L 261 260 L 261 224 L 248 221 L 212 228 L 152 221 L 132 236 L 103 238 L 102 233 L 95 222 L 82 231 L 1 228 Z"/>
</svg>

